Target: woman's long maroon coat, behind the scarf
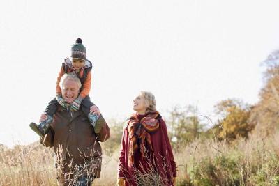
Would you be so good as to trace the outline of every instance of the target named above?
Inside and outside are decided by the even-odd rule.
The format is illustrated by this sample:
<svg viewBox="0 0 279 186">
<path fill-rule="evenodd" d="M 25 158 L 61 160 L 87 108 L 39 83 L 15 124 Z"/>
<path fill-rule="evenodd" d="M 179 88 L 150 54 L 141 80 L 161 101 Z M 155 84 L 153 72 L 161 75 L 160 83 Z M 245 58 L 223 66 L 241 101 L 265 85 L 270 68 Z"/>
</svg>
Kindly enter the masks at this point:
<svg viewBox="0 0 279 186">
<path fill-rule="evenodd" d="M 172 178 L 176 177 L 176 164 L 174 162 L 172 146 L 170 145 L 169 138 L 167 136 L 167 126 L 165 121 L 160 118 L 159 122 L 159 130 L 151 134 L 153 153 L 150 153 L 149 151 L 149 158 L 142 158 L 140 151 L 138 151 L 135 154 L 135 167 L 128 165 L 128 156 L 130 153 L 129 146 L 131 141 L 129 139 L 128 125 L 125 126 L 119 155 L 118 178 L 123 178 L 126 185 L 136 185 L 135 169 L 139 170 L 140 172 L 147 171 L 150 169 L 150 164 L 153 164 L 153 166 L 156 167 L 163 180 L 167 180 L 165 185 L 173 185 Z M 141 169 L 140 164 L 142 164 L 144 170 Z"/>
</svg>

